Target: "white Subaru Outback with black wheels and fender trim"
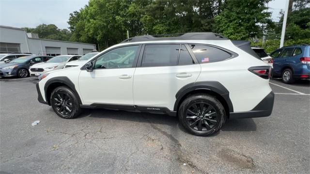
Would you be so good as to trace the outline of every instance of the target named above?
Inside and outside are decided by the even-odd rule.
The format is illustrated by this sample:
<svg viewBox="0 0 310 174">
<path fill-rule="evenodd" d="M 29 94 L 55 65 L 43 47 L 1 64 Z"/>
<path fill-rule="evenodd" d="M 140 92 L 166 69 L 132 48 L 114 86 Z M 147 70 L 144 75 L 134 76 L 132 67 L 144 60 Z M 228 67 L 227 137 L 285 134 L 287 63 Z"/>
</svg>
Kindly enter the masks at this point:
<svg viewBox="0 0 310 174">
<path fill-rule="evenodd" d="M 84 65 L 37 83 L 38 100 L 62 118 L 82 108 L 176 115 L 192 134 L 211 135 L 226 119 L 265 117 L 273 109 L 270 66 L 249 42 L 211 32 L 136 36 Z"/>
</svg>

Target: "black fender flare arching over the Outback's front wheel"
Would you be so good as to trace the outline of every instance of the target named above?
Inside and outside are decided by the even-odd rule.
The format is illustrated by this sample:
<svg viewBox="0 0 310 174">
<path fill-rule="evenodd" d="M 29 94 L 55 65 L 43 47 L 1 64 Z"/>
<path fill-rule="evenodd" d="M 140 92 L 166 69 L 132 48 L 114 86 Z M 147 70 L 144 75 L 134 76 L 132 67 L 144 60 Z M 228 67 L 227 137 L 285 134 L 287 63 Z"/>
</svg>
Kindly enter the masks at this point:
<svg viewBox="0 0 310 174">
<path fill-rule="evenodd" d="M 47 82 L 44 85 L 44 93 L 45 93 L 46 100 L 47 100 L 47 89 L 53 83 L 63 83 L 64 85 L 68 86 L 77 95 L 78 101 L 80 102 L 80 104 L 82 104 L 81 98 L 78 95 L 78 92 L 76 90 L 74 83 L 68 77 L 65 77 L 65 76 L 54 77 L 54 78 L 47 80 Z M 48 100 L 47 102 L 49 103 Z"/>
</svg>

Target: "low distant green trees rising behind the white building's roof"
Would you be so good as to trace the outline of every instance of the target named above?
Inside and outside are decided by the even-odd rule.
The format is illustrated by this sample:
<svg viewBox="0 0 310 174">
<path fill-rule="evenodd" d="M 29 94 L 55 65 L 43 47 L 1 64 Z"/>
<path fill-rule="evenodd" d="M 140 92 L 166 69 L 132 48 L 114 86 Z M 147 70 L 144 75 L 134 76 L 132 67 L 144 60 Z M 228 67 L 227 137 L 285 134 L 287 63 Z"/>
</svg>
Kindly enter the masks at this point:
<svg viewBox="0 0 310 174">
<path fill-rule="evenodd" d="M 36 28 L 23 28 L 27 32 L 37 33 L 39 38 L 42 39 L 54 39 L 54 40 L 63 40 L 68 41 L 70 39 L 71 32 L 67 29 L 59 29 L 54 24 L 41 24 L 38 25 Z"/>
</svg>

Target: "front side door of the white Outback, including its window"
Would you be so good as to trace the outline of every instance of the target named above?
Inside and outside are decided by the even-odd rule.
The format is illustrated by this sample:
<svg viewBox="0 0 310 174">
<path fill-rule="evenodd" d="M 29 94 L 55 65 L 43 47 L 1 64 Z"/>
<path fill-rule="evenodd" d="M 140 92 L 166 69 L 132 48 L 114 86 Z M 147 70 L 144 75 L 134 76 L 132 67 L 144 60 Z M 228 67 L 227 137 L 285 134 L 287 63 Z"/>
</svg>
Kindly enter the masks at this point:
<svg viewBox="0 0 310 174">
<path fill-rule="evenodd" d="M 83 104 L 133 108 L 133 76 L 139 52 L 140 45 L 112 48 L 91 61 L 92 72 L 81 70 L 78 84 Z"/>
</svg>

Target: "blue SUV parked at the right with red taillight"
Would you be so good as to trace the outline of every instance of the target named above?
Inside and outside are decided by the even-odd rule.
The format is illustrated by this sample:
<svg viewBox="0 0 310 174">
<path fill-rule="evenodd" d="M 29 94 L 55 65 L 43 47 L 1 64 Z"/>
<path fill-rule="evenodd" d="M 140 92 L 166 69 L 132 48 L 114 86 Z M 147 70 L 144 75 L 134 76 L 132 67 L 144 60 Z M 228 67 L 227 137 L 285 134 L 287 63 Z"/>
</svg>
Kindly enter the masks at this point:
<svg viewBox="0 0 310 174">
<path fill-rule="evenodd" d="M 270 54 L 274 58 L 273 77 L 281 77 L 284 83 L 295 79 L 309 79 L 310 45 L 281 47 Z"/>
</svg>

